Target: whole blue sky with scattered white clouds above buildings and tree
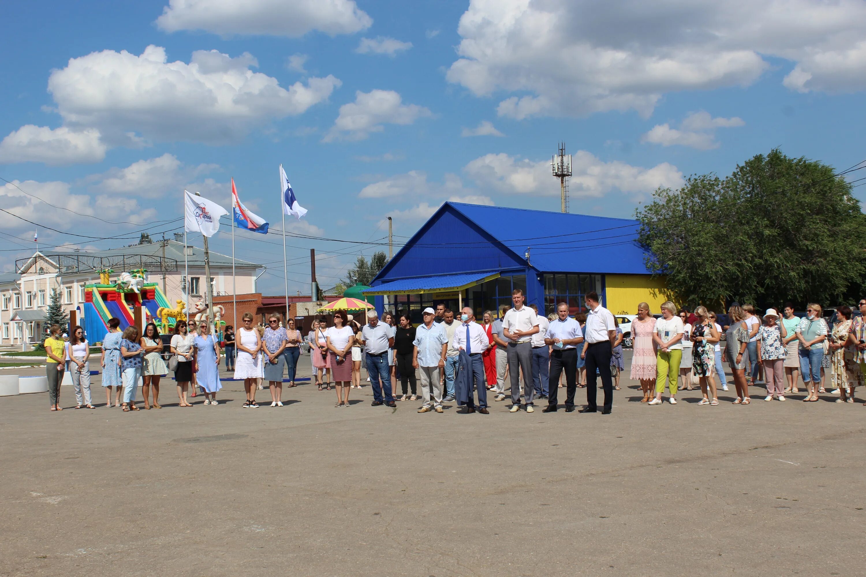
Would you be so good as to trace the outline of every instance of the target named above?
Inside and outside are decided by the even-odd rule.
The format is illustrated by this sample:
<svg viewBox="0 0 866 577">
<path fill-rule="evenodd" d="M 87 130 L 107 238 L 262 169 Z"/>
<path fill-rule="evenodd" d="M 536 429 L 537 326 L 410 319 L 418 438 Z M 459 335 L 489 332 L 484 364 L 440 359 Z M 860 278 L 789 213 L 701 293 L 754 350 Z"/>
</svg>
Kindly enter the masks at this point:
<svg viewBox="0 0 866 577">
<path fill-rule="evenodd" d="M 449 199 L 558 210 L 560 140 L 572 212 L 607 216 L 776 146 L 840 170 L 866 159 L 862 2 L 325 4 L 10 4 L 0 176 L 19 188 L 0 182 L 3 208 L 78 234 L 147 228 L 94 216 L 159 233 L 178 228 L 184 187 L 228 205 L 234 177 L 278 228 L 283 163 L 309 210 L 289 231 L 382 242 L 385 216 L 402 240 Z M 3 270 L 33 228 L 0 214 Z M 268 263 L 262 290 L 280 293 L 281 239 L 240 236 L 238 257 Z M 308 248 L 331 285 L 378 247 L 290 244 L 293 292 Z"/>
</svg>

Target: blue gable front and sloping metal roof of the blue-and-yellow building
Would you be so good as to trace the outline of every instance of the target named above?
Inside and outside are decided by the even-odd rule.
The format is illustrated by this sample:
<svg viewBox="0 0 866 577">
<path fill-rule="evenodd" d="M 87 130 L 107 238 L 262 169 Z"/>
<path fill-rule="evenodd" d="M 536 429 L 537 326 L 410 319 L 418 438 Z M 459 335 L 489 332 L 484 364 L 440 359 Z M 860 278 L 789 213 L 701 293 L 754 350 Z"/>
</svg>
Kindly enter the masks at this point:
<svg viewBox="0 0 866 577">
<path fill-rule="evenodd" d="M 445 202 L 371 283 L 456 272 L 650 274 L 633 219 Z M 430 277 L 426 277 L 430 279 Z"/>
</svg>

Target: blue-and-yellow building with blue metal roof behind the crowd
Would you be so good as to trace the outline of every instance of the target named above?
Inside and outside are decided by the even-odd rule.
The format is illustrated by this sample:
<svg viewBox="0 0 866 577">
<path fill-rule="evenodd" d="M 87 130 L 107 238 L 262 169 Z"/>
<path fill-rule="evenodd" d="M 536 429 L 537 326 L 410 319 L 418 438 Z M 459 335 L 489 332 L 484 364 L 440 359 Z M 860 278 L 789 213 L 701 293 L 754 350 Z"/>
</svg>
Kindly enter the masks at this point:
<svg viewBox="0 0 866 577">
<path fill-rule="evenodd" d="M 510 305 L 522 289 L 546 314 L 566 302 L 572 313 L 595 291 L 616 314 L 652 310 L 668 298 L 646 267 L 632 219 L 445 202 L 373 279 L 365 294 L 381 310 L 469 305 L 477 317 Z"/>
</svg>

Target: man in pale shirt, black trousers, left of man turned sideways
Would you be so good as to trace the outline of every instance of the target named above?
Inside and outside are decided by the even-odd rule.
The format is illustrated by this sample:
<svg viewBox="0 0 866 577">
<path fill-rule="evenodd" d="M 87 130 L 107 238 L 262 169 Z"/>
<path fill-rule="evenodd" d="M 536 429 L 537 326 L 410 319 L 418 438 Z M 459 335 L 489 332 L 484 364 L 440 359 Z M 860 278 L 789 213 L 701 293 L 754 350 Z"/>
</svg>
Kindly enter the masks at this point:
<svg viewBox="0 0 866 577">
<path fill-rule="evenodd" d="M 559 303 L 556 307 L 557 319 L 547 329 L 545 342 L 553 346 L 550 356 L 550 400 L 547 401 L 545 413 L 555 413 L 557 410 L 557 394 L 559 393 L 559 375 L 565 370 L 565 412 L 574 411 L 574 394 L 578 390 L 578 348 L 584 342 L 584 334 L 580 324 L 568 316 L 568 305 Z"/>
</svg>

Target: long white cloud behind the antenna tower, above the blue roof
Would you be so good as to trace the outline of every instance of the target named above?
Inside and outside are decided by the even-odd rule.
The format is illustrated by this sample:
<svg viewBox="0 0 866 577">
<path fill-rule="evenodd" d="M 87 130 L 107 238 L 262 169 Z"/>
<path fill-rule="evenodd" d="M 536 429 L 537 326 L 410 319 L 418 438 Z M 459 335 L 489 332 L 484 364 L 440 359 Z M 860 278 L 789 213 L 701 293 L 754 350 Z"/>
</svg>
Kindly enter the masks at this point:
<svg viewBox="0 0 866 577">
<path fill-rule="evenodd" d="M 475 158 L 463 171 L 481 189 L 508 194 L 558 196 L 559 180 L 551 175 L 549 160 L 531 161 L 507 154 L 488 154 Z M 569 189 L 572 196 L 604 196 L 611 190 L 624 193 L 648 193 L 659 186 L 682 185 L 682 172 L 669 163 L 651 169 L 631 166 L 620 161 L 605 163 L 587 151 L 572 155 Z"/>
</svg>

